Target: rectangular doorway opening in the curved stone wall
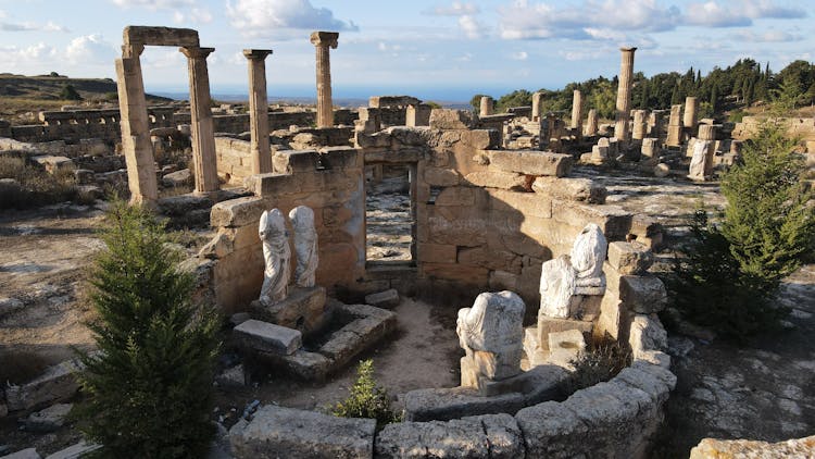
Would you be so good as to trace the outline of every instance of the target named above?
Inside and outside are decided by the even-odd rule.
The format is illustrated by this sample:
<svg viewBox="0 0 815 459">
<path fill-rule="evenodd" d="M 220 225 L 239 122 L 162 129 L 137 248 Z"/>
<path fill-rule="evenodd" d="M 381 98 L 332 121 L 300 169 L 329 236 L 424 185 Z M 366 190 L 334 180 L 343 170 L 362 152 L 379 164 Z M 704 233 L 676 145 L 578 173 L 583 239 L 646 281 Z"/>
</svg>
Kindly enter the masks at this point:
<svg viewBox="0 0 815 459">
<path fill-rule="evenodd" d="M 415 265 L 416 164 L 365 169 L 366 264 Z"/>
</svg>

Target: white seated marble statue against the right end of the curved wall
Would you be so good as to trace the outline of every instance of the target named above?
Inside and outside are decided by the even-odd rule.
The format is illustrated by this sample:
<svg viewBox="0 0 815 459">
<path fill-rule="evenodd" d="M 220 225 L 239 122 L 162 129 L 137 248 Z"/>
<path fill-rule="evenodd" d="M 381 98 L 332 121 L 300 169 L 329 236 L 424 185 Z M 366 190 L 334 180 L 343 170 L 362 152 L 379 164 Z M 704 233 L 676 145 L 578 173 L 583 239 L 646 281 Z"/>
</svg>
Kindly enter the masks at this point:
<svg viewBox="0 0 815 459">
<path fill-rule="evenodd" d="M 570 256 L 544 261 L 540 274 L 539 314 L 566 319 L 579 303 L 578 295 L 603 295 L 609 243 L 600 226 L 589 223 L 572 246 Z"/>
</svg>

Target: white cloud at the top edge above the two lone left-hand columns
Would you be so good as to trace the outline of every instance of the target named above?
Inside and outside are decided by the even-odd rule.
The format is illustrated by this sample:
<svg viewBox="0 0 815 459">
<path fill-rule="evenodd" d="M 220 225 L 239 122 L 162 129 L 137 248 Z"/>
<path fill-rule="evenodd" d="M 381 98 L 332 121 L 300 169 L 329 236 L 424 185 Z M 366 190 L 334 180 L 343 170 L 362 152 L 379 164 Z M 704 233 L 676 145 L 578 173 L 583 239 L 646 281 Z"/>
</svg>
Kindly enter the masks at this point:
<svg viewBox="0 0 815 459">
<path fill-rule="evenodd" d="M 268 36 L 280 29 L 358 30 L 353 22 L 334 17 L 331 10 L 310 0 L 227 0 L 231 25 L 249 36 Z"/>
</svg>

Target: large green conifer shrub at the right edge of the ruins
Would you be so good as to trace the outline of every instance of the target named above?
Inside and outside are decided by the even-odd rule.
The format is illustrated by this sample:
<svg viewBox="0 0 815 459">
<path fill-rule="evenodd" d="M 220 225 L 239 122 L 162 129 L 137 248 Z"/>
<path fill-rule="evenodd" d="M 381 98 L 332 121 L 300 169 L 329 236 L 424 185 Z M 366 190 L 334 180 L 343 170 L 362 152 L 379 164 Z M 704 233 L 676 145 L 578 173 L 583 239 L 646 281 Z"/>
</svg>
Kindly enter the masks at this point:
<svg viewBox="0 0 815 459">
<path fill-rule="evenodd" d="M 724 175 L 722 224 L 697 211 L 691 237 L 664 278 L 686 319 L 743 339 L 776 328 L 788 313 L 773 297 L 815 247 L 812 190 L 800 179 L 804 168 L 793 146 L 779 125 L 765 124 Z"/>
</svg>

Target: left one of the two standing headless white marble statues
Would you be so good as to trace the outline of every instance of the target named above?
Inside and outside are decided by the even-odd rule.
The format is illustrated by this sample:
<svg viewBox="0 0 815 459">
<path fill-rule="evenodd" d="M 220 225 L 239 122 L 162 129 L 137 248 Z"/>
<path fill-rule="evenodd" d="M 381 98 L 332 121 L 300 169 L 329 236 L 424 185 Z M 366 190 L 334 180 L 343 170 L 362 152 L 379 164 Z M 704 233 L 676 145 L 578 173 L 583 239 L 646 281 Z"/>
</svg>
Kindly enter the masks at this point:
<svg viewBox="0 0 815 459">
<path fill-rule="evenodd" d="M 258 234 L 263 241 L 263 259 L 266 262 L 260 301 L 268 306 L 285 299 L 288 295 L 291 249 L 283 212 L 278 209 L 264 211 Z"/>
</svg>

